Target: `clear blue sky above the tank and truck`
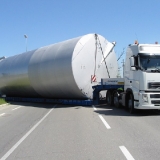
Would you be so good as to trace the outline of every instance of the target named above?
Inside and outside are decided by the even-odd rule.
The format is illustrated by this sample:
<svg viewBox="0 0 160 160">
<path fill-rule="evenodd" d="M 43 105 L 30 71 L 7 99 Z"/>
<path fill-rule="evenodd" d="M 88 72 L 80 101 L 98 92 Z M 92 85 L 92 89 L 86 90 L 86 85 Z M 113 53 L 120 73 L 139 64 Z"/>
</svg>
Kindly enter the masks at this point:
<svg viewBox="0 0 160 160">
<path fill-rule="evenodd" d="M 129 44 L 160 43 L 160 0 L 0 0 L 0 57 L 89 33 Z M 119 60 L 119 67 L 125 54 Z"/>
</svg>

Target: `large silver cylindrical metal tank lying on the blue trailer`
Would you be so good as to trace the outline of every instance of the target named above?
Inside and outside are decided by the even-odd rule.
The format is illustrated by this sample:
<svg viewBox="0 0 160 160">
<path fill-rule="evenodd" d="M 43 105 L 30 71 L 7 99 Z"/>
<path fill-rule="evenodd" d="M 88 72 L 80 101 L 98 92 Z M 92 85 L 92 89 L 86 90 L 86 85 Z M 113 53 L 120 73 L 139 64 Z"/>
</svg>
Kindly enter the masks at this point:
<svg viewBox="0 0 160 160">
<path fill-rule="evenodd" d="M 113 50 L 102 62 L 108 44 L 101 35 L 88 34 L 3 59 L 0 94 L 92 99 L 93 85 L 101 78 L 117 76 Z"/>
</svg>

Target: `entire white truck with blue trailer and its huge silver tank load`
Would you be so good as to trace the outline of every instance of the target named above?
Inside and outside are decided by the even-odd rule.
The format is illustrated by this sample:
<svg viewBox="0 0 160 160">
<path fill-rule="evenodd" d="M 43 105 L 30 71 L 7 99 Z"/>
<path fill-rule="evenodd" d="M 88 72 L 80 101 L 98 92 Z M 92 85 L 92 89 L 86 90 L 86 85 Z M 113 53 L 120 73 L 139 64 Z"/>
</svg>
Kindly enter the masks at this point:
<svg viewBox="0 0 160 160">
<path fill-rule="evenodd" d="M 129 45 L 117 78 L 115 42 L 88 34 L 0 58 L 0 96 L 14 101 L 160 109 L 160 45 Z M 101 81 L 101 82 L 100 82 Z M 107 90 L 107 92 L 106 92 Z M 90 101 L 88 101 L 90 100 Z"/>
</svg>

